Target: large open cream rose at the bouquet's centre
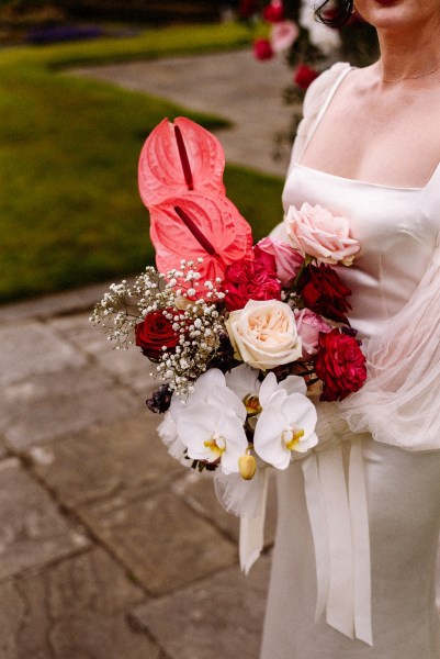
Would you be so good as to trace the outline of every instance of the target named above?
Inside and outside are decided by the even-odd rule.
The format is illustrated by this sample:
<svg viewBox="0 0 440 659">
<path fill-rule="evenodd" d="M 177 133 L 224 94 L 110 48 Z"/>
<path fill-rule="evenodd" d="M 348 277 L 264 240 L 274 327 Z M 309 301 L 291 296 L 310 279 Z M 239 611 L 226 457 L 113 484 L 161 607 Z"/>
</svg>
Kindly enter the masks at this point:
<svg viewBox="0 0 440 659">
<path fill-rule="evenodd" d="M 295 316 L 289 304 L 278 300 L 249 300 L 226 321 L 236 359 L 267 370 L 296 361 L 302 356 Z"/>
</svg>

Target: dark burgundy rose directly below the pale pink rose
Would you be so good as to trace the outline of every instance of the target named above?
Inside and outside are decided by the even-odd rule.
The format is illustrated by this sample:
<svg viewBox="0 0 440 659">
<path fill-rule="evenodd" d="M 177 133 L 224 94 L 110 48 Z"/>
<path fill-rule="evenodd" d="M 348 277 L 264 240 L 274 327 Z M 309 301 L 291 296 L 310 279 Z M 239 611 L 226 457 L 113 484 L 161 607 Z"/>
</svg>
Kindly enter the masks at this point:
<svg viewBox="0 0 440 659">
<path fill-rule="evenodd" d="M 305 306 L 315 313 L 337 323 L 350 324 L 345 314 L 351 309 L 346 300 L 351 291 L 341 282 L 335 268 L 326 264 L 308 266 L 300 279 L 298 293 Z"/>
</svg>

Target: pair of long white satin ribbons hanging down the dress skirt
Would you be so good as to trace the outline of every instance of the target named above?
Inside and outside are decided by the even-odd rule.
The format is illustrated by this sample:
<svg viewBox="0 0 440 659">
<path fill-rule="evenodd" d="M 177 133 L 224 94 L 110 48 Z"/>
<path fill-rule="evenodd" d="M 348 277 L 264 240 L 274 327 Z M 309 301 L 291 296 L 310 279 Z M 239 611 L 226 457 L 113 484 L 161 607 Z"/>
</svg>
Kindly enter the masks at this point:
<svg viewBox="0 0 440 659">
<path fill-rule="evenodd" d="M 316 618 L 372 645 L 371 566 L 360 439 L 351 440 L 348 491 L 340 443 L 328 442 L 302 463 L 315 547 Z"/>
</svg>

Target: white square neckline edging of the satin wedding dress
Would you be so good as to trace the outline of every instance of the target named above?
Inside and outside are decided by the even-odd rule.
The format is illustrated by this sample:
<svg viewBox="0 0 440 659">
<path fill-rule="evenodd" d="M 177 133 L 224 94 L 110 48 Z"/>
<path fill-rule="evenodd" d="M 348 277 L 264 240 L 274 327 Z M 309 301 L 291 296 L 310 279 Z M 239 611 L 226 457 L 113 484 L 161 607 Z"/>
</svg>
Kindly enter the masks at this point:
<svg viewBox="0 0 440 659">
<path fill-rule="evenodd" d="M 433 180 L 437 178 L 437 175 L 440 174 L 440 161 L 437 164 L 436 169 L 433 170 L 432 175 L 430 176 L 430 178 L 428 179 L 427 183 L 420 188 L 420 187 L 400 187 L 400 186 L 387 186 L 386 183 L 375 183 L 372 181 L 363 181 L 361 179 L 354 179 L 354 178 L 349 178 L 349 177 L 345 177 L 345 176 L 338 176 L 337 174 L 331 174 L 330 171 L 325 171 L 324 169 L 317 169 L 316 167 L 308 167 L 307 165 L 303 165 L 300 160 L 303 157 L 306 148 L 308 147 L 308 145 L 311 144 L 311 141 L 313 139 L 313 136 L 315 135 L 315 132 L 317 130 L 317 127 L 319 126 L 329 104 L 331 103 L 335 93 L 337 92 L 337 90 L 339 89 L 341 82 L 346 79 L 346 77 L 348 76 L 348 74 L 352 70 L 356 70 L 358 67 L 356 66 L 351 66 L 350 64 L 347 63 L 347 68 L 345 68 L 339 76 L 337 77 L 337 79 L 335 80 L 334 85 L 330 88 L 330 91 L 327 94 L 327 98 L 325 100 L 325 102 L 323 103 L 323 107 L 320 108 L 314 123 L 311 126 L 311 130 L 308 131 L 307 134 L 307 138 L 303 145 L 303 148 L 301 149 L 301 153 L 298 154 L 298 157 L 296 159 L 296 161 L 293 163 L 293 167 L 301 167 L 302 169 L 305 169 L 307 171 L 311 172 L 315 172 L 321 176 L 326 176 L 326 177 L 330 177 L 334 179 L 337 179 L 339 181 L 345 181 L 347 183 L 358 183 L 359 186 L 365 186 L 365 187 L 371 187 L 371 188 L 381 188 L 384 190 L 395 190 L 395 191 L 400 191 L 400 192 L 424 192 L 425 190 L 427 190 L 431 183 L 433 182 Z"/>
</svg>

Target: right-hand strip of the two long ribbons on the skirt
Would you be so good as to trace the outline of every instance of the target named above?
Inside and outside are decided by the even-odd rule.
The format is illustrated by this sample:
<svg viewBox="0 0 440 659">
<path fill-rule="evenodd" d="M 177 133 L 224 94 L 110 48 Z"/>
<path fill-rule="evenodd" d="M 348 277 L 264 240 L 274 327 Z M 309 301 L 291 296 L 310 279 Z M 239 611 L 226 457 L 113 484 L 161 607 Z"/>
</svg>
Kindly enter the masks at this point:
<svg viewBox="0 0 440 659">
<path fill-rule="evenodd" d="M 351 442 L 349 499 L 353 544 L 354 630 L 357 638 L 373 645 L 369 516 L 362 445 L 359 438 Z"/>
</svg>

